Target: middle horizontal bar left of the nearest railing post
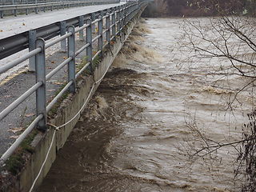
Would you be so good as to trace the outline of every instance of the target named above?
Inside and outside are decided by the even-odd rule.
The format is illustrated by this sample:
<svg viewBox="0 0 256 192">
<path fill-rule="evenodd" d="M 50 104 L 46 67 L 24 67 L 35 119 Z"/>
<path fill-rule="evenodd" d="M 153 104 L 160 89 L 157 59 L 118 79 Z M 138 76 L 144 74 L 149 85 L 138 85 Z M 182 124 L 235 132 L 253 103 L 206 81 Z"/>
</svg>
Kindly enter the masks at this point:
<svg viewBox="0 0 256 192">
<path fill-rule="evenodd" d="M 37 90 L 40 86 L 42 86 L 42 82 L 34 84 L 34 86 L 32 86 L 29 90 L 22 94 L 22 96 L 12 102 L 10 106 L 7 106 L 5 110 L 2 110 L 2 112 L 0 113 L 0 121 L 5 118 L 7 114 L 10 114 L 10 112 L 14 110 L 19 104 L 21 104 L 26 98 L 28 98 L 30 94 L 33 94 L 34 91 Z"/>
</svg>

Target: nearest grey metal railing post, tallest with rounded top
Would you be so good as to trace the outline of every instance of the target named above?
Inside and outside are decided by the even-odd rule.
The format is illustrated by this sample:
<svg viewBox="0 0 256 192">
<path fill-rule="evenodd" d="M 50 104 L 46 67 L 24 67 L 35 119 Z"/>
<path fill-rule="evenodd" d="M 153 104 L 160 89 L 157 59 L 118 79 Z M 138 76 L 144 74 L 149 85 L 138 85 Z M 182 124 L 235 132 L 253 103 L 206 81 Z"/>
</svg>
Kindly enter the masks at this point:
<svg viewBox="0 0 256 192">
<path fill-rule="evenodd" d="M 42 82 L 42 86 L 36 90 L 37 115 L 42 114 L 43 118 L 38 122 L 38 129 L 46 130 L 46 66 L 45 66 L 45 41 L 38 38 L 35 42 L 36 48 L 40 47 L 42 51 L 36 54 L 36 82 Z"/>
</svg>

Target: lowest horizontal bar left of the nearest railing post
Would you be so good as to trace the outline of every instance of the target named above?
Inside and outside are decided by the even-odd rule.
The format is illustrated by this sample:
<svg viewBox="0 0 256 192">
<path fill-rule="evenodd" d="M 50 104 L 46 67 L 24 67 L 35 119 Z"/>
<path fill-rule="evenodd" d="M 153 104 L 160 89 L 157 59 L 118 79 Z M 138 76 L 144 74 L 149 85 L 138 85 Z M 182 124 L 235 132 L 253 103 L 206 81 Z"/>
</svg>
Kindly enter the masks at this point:
<svg viewBox="0 0 256 192">
<path fill-rule="evenodd" d="M 14 150 L 18 148 L 18 146 L 22 143 L 22 141 L 26 138 L 28 134 L 34 129 L 35 126 L 37 126 L 38 122 L 43 118 L 42 114 L 39 114 L 37 118 L 34 119 L 34 121 L 24 130 L 24 132 L 19 135 L 19 137 L 16 139 L 14 144 L 10 146 L 8 150 L 6 150 L 6 153 L 2 155 L 0 158 L 1 161 L 6 162 L 8 158 L 10 158 L 10 155 L 14 153 Z"/>
</svg>

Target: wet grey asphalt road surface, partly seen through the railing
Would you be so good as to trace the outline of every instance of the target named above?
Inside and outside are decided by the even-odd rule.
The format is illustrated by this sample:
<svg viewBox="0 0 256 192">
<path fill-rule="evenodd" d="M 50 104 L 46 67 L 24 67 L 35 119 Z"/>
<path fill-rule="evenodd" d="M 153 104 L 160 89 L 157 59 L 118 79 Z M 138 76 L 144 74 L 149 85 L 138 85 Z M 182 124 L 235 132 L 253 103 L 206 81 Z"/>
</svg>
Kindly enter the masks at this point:
<svg viewBox="0 0 256 192">
<path fill-rule="evenodd" d="M 108 9 L 120 4 L 110 4 L 101 6 L 84 6 L 79 8 L 70 8 L 66 10 L 55 10 L 53 12 L 46 12 L 38 14 L 29 14 L 18 17 L 6 17 L 0 19 L 0 38 L 22 33 L 26 30 L 33 30 L 40 26 L 49 25 L 52 22 L 62 21 L 68 18 L 74 18 L 81 14 L 89 14 L 94 11 Z M 24 23 L 24 25 L 23 25 Z M 76 46 L 82 42 L 77 43 Z M 28 50 L 23 50 L 20 53 L 0 60 L 0 67 L 6 63 L 20 57 Z M 84 57 L 80 55 L 79 57 Z M 54 46 L 48 50 L 46 56 L 46 73 L 56 67 L 66 57 L 66 53 L 60 51 L 60 47 Z M 78 58 L 79 59 L 79 58 Z M 27 72 L 28 62 L 23 62 L 22 65 L 10 70 L 0 76 L 0 111 L 9 106 L 20 95 L 24 94 L 32 85 L 34 85 L 34 73 Z M 59 89 L 60 83 L 66 80 L 64 75 L 65 69 L 58 72 L 58 75 L 51 78 L 47 82 L 47 99 Z M 35 94 L 32 94 L 25 102 L 22 102 L 13 112 L 8 114 L 0 122 L 0 154 L 2 155 L 8 147 L 18 137 L 20 130 L 28 125 L 28 123 L 35 117 Z"/>
</svg>

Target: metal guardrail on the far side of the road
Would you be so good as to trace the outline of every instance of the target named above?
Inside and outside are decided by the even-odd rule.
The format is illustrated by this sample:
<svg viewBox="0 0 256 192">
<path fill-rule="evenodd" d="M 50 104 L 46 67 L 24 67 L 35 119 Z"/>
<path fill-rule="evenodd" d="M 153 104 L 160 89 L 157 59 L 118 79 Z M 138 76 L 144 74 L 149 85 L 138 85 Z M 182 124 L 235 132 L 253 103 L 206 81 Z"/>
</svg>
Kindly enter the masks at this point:
<svg viewBox="0 0 256 192">
<path fill-rule="evenodd" d="M 65 7 L 70 8 L 74 6 L 92 6 L 92 5 L 99 5 L 99 4 L 110 4 L 110 3 L 118 3 L 119 0 L 82 0 L 82 1 L 69 1 L 69 2 L 36 2 L 36 3 L 26 3 L 26 4 L 14 4 L 14 5 L 0 5 L 0 15 L 1 18 L 3 18 L 5 12 L 7 10 L 10 10 L 11 14 L 14 14 L 14 16 L 17 16 L 17 10 L 25 10 L 26 15 L 29 13 L 29 10 L 34 10 L 34 12 L 37 14 L 40 9 L 42 9 L 43 12 L 46 12 L 46 10 L 54 10 L 59 9 L 59 7 L 62 7 L 64 9 Z"/>
</svg>

